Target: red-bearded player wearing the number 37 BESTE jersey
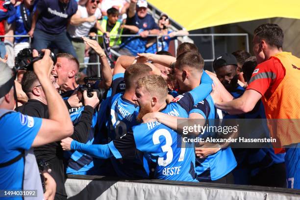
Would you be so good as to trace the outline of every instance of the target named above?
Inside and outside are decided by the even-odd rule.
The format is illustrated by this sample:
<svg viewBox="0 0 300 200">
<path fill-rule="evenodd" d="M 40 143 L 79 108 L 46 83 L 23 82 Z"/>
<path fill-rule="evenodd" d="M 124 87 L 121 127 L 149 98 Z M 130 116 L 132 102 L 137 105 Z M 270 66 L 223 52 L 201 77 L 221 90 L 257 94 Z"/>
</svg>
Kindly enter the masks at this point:
<svg viewBox="0 0 300 200">
<path fill-rule="evenodd" d="M 200 61 L 199 54 L 198 61 Z M 167 104 L 167 95 L 168 86 L 163 77 L 148 75 L 139 79 L 135 95 L 132 97 L 132 100 L 140 105 L 137 120 L 141 120 L 148 112 L 156 111 L 187 118 L 190 108 L 202 100 L 200 86 L 182 94 L 181 99 L 184 101 Z M 100 158 L 111 156 L 117 159 L 134 158 L 138 155 L 138 151 L 142 151 L 144 154 L 142 161 L 146 172 L 149 173 L 149 166 L 152 164 L 154 166 L 153 178 L 197 182 L 194 144 L 183 143 L 177 140 L 178 137 L 181 136 L 175 130 L 154 122 L 133 126 L 132 131 L 127 131 L 125 135 L 106 145 L 85 145 L 72 138 L 64 139 L 61 145 L 64 150 L 79 150 Z M 177 145 L 182 145 L 182 148 L 178 148 Z"/>
</svg>

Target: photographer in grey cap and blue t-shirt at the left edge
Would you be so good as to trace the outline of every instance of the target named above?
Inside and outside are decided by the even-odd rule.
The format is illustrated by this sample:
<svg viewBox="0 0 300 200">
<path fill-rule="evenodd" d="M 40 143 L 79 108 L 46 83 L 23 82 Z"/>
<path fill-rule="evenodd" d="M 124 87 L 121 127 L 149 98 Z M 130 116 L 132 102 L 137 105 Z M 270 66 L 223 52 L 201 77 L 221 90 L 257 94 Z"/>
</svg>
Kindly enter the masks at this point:
<svg viewBox="0 0 300 200">
<path fill-rule="evenodd" d="M 34 62 L 33 70 L 45 93 L 49 119 L 30 117 L 12 110 L 15 105 L 15 76 L 7 64 L 0 63 L 0 131 L 3 133 L 0 140 L 0 189 L 22 190 L 33 187 L 37 190 L 37 200 L 44 198 L 43 188 L 31 148 L 59 141 L 73 133 L 67 107 L 49 78 L 53 67 L 50 50 L 42 51 L 45 55 Z M 34 50 L 33 57 L 37 56 L 39 53 Z M 53 199 L 53 196 L 45 197 L 48 198 Z"/>
</svg>

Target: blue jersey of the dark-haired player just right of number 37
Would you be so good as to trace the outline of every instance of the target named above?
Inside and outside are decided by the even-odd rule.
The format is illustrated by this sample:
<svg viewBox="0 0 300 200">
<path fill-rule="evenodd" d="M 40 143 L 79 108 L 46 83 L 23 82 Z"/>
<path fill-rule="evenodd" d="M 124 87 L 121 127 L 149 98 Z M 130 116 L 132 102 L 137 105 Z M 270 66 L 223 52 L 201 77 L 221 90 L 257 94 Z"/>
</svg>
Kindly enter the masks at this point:
<svg viewBox="0 0 300 200">
<path fill-rule="evenodd" d="M 190 113 L 199 113 L 204 119 L 217 119 L 214 101 L 208 95 Z M 206 135 L 205 133 L 203 135 Z M 196 157 L 197 180 L 217 180 L 230 173 L 237 163 L 230 147 L 219 150 L 205 158 Z"/>
</svg>

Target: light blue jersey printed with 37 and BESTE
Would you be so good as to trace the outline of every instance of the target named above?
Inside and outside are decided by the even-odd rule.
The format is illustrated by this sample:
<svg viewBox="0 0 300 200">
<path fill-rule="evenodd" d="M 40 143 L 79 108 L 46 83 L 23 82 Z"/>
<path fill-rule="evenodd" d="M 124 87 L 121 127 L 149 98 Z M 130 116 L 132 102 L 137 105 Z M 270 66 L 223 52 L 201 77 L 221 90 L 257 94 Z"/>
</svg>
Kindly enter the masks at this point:
<svg viewBox="0 0 300 200">
<path fill-rule="evenodd" d="M 188 116 L 178 103 L 168 104 L 161 112 L 177 117 Z M 181 135 L 158 122 L 136 125 L 132 130 L 108 144 L 116 158 L 135 156 L 137 151 L 142 151 L 144 167 L 148 173 L 149 165 L 154 163 L 153 178 L 196 181 L 193 144 L 184 143 L 183 148 L 178 148 L 177 145 L 182 145 Z"/>
</svg>

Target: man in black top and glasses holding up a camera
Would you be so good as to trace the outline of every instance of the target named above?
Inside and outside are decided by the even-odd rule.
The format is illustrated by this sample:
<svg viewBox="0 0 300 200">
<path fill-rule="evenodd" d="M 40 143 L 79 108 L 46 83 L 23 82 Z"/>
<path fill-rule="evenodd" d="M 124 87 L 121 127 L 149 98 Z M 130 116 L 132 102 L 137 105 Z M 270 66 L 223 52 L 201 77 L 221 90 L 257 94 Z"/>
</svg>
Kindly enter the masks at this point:
<svg viewBox="0 0 300 200">
<path fill-rule="evenodd" d="M 23 114 L 32 117 L 49 118 L 49 110 L 47 106 L 47 99 L 43 88 L 32 71 L 24 74 L 22 79 L 22 89 L 28 96 L 28 102 L 19 107 L 19 111 Z M 77 98 L 78 99 L 78 98 Z M 74 134 L 71 136 L 73 139 L 85 143 L 88 138 L 88 132 L 92 125 L 92 116 L 94 108 L 98 105 L 99 99 L 97 95 L 88 98 L 86 91 L 83 94 L 84 110 L 81 113 L 79 122 L 74 127 Z M 79 102 L 79 99 L 78 99 Z M 49 163 L 51 169 L 50 175 L 56 181 L 56 194 L 55 199 L 67 199 L 66 190 L 64 187 L 64 166 L 63 166 L 63 151 L 59 142 L 52 142 L 50 144 L 34 148 L 34 154 L 38 161 L 42 160 Z"/>
</svg>

